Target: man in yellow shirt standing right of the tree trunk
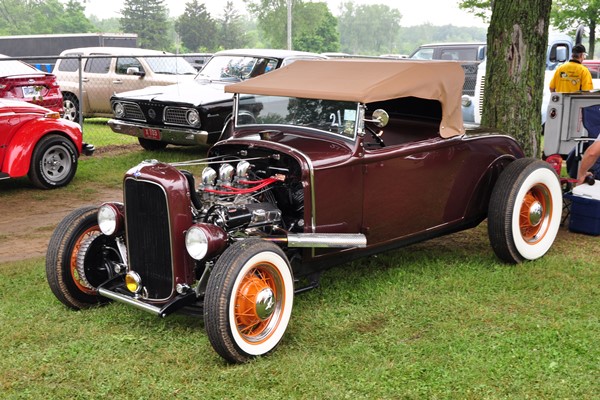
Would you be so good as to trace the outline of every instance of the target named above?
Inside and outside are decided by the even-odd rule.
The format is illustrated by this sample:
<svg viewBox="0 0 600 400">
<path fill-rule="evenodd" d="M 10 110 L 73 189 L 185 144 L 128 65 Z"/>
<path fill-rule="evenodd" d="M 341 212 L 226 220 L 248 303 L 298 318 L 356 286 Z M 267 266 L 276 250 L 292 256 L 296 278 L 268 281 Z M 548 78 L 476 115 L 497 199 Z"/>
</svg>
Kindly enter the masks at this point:
<svg viewBox="0 0 600 400">
<path fill-rule="evenodd" d="M 590 70 L 581 65 L 587 53 L 585 46 L 576 44 L 571 52 L 571 59 L 556 69 L 550 81 L 551 92 L 589 91 L 594 88 Z"/>
</svg>

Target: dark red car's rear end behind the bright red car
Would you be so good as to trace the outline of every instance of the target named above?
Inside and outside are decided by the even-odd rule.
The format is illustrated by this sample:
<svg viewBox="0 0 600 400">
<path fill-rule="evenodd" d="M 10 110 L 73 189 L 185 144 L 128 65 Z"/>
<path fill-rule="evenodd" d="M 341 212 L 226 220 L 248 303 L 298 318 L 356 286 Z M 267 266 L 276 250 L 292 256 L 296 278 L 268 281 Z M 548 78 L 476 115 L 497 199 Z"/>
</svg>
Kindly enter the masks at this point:
<svg viewBox="0 0 600 400">
<path fill-rule="evenodd" d="M 63 112 L 63 99 L 54 75 L 2 54 L 0 98 L 23 100 L 61 114 Z"/>
</svg>

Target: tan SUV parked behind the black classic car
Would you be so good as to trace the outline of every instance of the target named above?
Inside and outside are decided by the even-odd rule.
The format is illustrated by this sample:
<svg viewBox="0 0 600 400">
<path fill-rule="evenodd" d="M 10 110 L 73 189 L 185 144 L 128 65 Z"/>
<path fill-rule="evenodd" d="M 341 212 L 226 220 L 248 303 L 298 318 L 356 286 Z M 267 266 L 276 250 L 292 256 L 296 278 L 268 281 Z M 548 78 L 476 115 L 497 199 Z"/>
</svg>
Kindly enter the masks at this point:
<svg viewBox="0 0 600 400">
<path fill-rule="evenodd" d="M 111 117 L 110 96 L 147 86 L 191 81 L 197 71 L 182 57 L 126 47 L 82 47 L 60 54 L 53 73 L 64 98 L 65 118 Z M 83 65 L 79 91 L 79 65 Z"/>
</svg>

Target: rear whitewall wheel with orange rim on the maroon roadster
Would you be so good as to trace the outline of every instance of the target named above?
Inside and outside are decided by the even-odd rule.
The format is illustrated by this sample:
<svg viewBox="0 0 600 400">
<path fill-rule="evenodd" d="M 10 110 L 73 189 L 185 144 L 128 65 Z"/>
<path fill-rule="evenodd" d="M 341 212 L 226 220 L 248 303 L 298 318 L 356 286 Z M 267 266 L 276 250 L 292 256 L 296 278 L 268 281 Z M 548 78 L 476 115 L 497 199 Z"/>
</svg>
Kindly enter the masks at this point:
<svg viewBox="0 0 600 400">
<path fill-rule="evenodd" d="M 542 257 L 554 243 L 562 214 L 562 190 L 545 161 L 522 158 L 502 172 L 488 211 L 488 235 L 496 255 L 509 263 Z"/>
</svg>

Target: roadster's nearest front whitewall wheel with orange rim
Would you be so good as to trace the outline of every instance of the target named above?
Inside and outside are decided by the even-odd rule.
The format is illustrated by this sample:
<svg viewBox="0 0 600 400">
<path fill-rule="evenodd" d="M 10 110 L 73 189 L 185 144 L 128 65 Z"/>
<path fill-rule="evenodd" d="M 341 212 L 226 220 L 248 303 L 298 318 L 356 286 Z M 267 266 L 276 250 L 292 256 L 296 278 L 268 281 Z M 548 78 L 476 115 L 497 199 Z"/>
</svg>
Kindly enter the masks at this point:
<svg viewBox="0 0 600 400">
<path fill-rule="evenodd" d="M 204 299 L 204 325 L 215 351 L 243 363 L 271 352 L 287 328 L 294 299 L 290 264 L 279 247 L 247 239 L 216 262 Z"/>
</svg>

